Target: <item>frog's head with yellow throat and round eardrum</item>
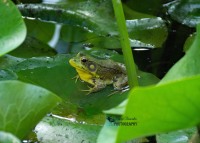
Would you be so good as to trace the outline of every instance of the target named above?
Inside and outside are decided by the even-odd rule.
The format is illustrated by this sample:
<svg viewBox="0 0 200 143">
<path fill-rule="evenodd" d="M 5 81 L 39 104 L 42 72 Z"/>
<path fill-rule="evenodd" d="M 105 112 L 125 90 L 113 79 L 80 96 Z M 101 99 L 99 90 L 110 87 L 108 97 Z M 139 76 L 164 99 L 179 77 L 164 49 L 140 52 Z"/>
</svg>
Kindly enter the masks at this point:
<svg viewBox="0 0 200 143">
<path fill-rule="evenodd" d="M 71 66 L 73 66 L 76 70 L 84 71 L 85 73 L 90 73 L 92 75 L 95 75 L 95 72 L 97 70 L 97 63 L 95 62 L 96 59 L 85 54 L 82 52 L 79 52 L 76 57 L 73 57 L 69 60 L 69 63 Z"/>
</svg>

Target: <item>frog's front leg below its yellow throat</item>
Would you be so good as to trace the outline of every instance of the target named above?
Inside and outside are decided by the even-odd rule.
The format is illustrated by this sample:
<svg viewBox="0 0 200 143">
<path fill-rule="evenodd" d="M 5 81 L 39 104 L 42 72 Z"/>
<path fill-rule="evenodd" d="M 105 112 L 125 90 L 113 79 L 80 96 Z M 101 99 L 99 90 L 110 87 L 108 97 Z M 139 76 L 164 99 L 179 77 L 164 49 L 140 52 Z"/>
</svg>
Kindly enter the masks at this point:
<svg viewBox="0 0 200 143">
<path fill-rule="evenodd" d="M 92 78 L 88 82 L 90 84 L 92 84 L 93 87 L 89 87 L 89 89 L 87 89 L 87 90 L 82 90 L 82 91 L 88 91 L 88 94 L 90 94 L 92 92 L 97 92 L 106 87 L 106 84 L 104 83 L 104 81 L 99 78 Z"/>
</svg>

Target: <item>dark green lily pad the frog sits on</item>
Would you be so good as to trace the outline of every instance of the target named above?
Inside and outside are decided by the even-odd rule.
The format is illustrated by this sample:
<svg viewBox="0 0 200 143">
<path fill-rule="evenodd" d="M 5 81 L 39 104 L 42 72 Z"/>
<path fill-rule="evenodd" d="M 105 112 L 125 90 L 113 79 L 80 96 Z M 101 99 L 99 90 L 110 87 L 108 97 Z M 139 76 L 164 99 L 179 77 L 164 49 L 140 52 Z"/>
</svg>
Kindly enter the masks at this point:
<svg viewBox="0 0 200 143">
<path fill-rule="evenodd" d="M 88 51 L 88 54 L 100 56 L 101 58 L 112 58 L 118 60 L 118 62 L 122 62 L 123 59 L 121 55 L 108 50 L 91 50 Z M 1 74 L 4 77 L 2 80 L 8 79 L 6 77 L 8 75 L 12 79 L 40 85 L 53 91 L 69 103 L 83 108 L 88 114 L 110 109 L 126 99 L 126 92 L 108 96 L 114 92 L 112 85 L 105 90 L 87 96 L 86 92 L 81 91 L 88 88 L 87 83 L 80 80 L 75 82 L 75 79 L 72 79 L 77 73 L 68 63 L 71 57 L 72 55 L 34 57 L 29 59 L 19 59 L 11 56 L 7 58 L 2 57 L 0 59 L 2 61 L 1 68 L 3 69 Z M 141 85 L 158 82 L 155 76 L 144 72 L 139 72 L 138 79 Z M 66 111 L 73 112 L 70 107 Z"/>
</svg>

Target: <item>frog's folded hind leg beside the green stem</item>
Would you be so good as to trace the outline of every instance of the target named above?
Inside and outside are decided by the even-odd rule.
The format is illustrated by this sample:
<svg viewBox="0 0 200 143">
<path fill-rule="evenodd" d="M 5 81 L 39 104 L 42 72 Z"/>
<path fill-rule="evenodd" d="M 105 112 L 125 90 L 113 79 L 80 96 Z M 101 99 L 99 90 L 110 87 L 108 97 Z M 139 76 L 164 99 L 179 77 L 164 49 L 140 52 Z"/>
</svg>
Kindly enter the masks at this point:
<svg viewBox="0 0 200 143">
<path fill-rule="evenodd" d="M 123 90 L 128 86 L 128 77 L 125 74 L 116 75 L 113 79 L 113 87 L 115 90 Z"/>
</svg>

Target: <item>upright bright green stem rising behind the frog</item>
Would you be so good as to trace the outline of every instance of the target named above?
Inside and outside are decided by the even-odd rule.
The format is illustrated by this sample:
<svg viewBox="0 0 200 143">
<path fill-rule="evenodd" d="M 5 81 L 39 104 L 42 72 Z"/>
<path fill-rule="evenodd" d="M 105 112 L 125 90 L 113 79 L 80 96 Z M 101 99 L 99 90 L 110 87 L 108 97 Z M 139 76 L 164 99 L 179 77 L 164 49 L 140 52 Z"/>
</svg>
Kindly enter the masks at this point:
<svg viewBox="0 0 200 143">
<path fill-rule="evenodd" d="M 133 88 L 134 86 L 138 86 L 138 79 L 137 79 L 137 72 L 136 72 L 136 66 L 130 46 L 128 31 L 126 27 L 124 12 L 122 8 L 121 0 L 112 0 L 115 17 L 117 20 L 119 35 L 120 35 L 120 42 L 122 46 L 122 52 L 124 55 L 124 62 L 127 69 L 127 75 L 128 75 L 128 82 L 130 88 Z"/>
</svg>

